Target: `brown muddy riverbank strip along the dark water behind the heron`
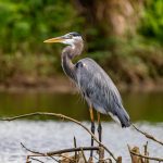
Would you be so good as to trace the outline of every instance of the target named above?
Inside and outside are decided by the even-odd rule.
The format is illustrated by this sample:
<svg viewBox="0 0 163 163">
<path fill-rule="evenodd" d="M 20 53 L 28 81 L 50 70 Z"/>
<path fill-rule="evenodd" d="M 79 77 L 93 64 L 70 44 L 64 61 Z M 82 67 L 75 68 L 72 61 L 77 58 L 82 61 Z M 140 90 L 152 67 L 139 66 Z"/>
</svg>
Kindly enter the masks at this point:
<svg viewBox="0 0 163 163">
<path fill-rule="evenodd" d="M 120 91 L 163 91 L 163 79 L 159 80 L 146 80 L 143 83 L 128 85 L 126 83 L 115 84 Z M 37 91 L 37 92 L 72 92 L 76 91 L 76 87 L 66 76 L 57 77 L 29 77 L 29 76 L 16 76 L 10 78 L 5 83 L 0 83 L 0 91 L 9 92 L 24 92 L 24 91 Z"/>
</svg>

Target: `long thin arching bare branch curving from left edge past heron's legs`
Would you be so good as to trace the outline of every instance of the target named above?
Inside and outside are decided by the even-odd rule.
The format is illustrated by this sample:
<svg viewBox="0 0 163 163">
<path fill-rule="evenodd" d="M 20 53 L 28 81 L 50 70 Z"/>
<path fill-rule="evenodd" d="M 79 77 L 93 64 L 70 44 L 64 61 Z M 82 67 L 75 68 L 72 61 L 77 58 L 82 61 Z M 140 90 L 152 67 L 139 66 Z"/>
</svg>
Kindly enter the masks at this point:
<svg viewBox="0 0 163 163">
<path fill-rule="evenodd" d="M 101 145 L 105 151 L 108 151 L 108 153 L 115 160 L 116 162 L 116 158 L 114 156 L 114 154 L 103 145 L 101 143 L 97 138 L 96 136 L 86 127 L 84 126 L 80 122 L 72 118 L 72 117 L 68 117 L 68 116 L 65 116 L 63 114 L 57 114 L 57 113 L 48 113 L 48 112 L 35 112 L 35 113 L 29 113 L 29 114 L 23 114 L 23 115 L 18 115 L 18 116 L 13 116 L 13 117 L 5 117 L 5 118 L 1 118 L 1 121 L 14 121 L 14 120 L 17 120 L 17 118 L 23 118 L 23 117 L 27 117 L 27 116 L 34 116 L 34 115 L 49 115 L 49 116 L 57 116 L 57 117 L 60 117 L 60 118 L 65 118 L 65 120 L 68 120 L 71 122 L 74 122 L 76 124 L 78 124 L 79 126 L 82 126 L 87 133 L 89 133 L 92 138 L 95 139 L 95 141 L 97 141 L 99 145 Z"/>
</svg>

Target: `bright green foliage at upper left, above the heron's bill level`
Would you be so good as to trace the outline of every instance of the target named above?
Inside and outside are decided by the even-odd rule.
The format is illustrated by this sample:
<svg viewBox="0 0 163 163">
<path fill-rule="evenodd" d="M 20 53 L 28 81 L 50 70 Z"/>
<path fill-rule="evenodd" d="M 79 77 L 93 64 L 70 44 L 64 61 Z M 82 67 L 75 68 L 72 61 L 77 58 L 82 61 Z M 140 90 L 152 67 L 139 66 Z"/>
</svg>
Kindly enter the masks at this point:
<svg viewBox="0 0 163 163">
<path fill-rule="evenodd" d="M 83 21 L 66 0 L 0 0 L 0 48 L 3 52 L 42 51 L 46 38 L 78 30 Z"/>
</svg>

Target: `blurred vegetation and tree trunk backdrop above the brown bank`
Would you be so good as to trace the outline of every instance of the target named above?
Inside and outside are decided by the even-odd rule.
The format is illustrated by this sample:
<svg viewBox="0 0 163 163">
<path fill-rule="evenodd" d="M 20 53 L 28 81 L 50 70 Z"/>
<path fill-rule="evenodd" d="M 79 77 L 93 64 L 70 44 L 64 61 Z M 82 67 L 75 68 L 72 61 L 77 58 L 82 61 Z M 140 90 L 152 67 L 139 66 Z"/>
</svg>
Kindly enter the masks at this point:
<svg viewBox="0 0 163 163">
<path fill-rule="evenodd" d="M 162 85 L 162 0 L 0 0 L 0 83 L 46 84 L 63 75 L 63 46 L 43 40 L 78 32 L 116 84 Z"/>
</svg>

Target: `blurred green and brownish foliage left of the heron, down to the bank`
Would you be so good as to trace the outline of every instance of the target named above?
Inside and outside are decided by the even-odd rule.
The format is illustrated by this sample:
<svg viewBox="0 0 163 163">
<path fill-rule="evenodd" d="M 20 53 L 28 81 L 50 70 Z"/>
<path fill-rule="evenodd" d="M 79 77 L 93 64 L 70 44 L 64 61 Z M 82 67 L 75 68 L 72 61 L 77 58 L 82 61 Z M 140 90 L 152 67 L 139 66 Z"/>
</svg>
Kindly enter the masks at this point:
<svg viewBox="0 0 163 163">
<path fill-rule="evenodd" d="M 0 0 L 0 82 L 5 82 L 55 73 L 61 48 L 43 40 L 80 30 L 84 18 L 66 0 Z"/>
</svg>

